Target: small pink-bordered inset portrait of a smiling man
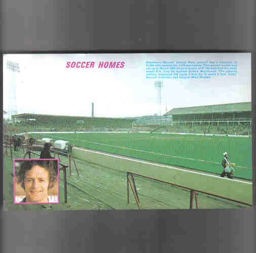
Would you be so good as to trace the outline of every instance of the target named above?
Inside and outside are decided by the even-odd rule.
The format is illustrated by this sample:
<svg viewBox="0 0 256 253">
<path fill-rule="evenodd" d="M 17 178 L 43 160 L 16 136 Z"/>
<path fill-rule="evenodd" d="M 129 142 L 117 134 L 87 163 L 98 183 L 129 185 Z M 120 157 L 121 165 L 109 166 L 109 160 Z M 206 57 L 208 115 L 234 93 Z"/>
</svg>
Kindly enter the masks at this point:
<svg viewBox="0 0 256 253">
<path fill-rule="evenodd" d="M 59 203 L 58 159 L 14 159 L 14 203 Z"/>
</svg>

